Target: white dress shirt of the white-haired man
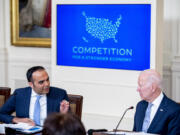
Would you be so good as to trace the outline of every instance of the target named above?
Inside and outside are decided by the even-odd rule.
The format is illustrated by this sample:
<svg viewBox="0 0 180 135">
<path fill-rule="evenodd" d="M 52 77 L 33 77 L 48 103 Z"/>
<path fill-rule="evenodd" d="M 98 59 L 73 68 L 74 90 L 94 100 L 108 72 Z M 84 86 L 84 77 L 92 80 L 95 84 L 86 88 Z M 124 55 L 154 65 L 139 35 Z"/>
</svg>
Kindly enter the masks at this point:
<svg viewBox="0 0 180 135">
<path fill-rule="evenodd" d="M 159 105 L 160 105 L 163 97 L 164 97 L 164 95 L 161 92 L 161 94 L 152 102 L 153 106 L 151 108 L 150 124 L 151 124 L 152 120 L 154 119 L 154 116 L 159 108 Z"/>
</svg>

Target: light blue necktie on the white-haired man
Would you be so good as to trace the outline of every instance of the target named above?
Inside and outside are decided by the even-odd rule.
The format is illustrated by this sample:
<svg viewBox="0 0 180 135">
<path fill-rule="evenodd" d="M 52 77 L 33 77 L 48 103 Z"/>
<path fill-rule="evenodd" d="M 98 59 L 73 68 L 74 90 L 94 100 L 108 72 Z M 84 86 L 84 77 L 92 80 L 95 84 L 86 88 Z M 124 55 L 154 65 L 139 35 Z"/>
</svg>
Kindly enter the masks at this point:
<svg viewBox="0 0 180 135">
<path fill-rule="evenodd" d="M 150 124 L 150 115 L 151 115 L 151 108 L 152 108 L 153 104 L 149 103 L 148 107 L 146 109 L 146 114 L 145 114 L 145 118 L 144 118 L 144 122 L 143 122 L 143 126 L 142 126 L 142 131 L 143 132 L 147 132 L 148 128 L 149 128 L 149 124 Z"/>
</svg>

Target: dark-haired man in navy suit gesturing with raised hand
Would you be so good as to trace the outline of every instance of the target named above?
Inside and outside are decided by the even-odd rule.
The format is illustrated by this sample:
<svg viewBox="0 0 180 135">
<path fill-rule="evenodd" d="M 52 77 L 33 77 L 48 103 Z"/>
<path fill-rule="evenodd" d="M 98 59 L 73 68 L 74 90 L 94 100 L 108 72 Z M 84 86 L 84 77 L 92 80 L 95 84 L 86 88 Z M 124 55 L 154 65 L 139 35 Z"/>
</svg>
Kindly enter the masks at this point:
<svg viewBox="0 0 180 135">
<path fill-rule="evenodd" d="M 50 87 L 49 76 L 44 67 L 32 67 L 27 71 L 26 76 L 30 87 L 14 91 L 0 108 L 1 122 L 43 125 L 48 114 L 68 112 L 69 102 L 66 91 Z M 11 115 L 13 112 L 16 112 L 16 116 Z"/>
</svg>

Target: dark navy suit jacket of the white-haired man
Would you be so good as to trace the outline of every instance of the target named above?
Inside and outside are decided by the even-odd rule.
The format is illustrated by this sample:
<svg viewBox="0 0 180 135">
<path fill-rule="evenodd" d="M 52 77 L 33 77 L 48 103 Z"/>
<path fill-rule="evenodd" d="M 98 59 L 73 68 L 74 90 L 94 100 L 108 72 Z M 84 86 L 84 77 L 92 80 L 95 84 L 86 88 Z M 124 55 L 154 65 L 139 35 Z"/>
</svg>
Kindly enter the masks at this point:
<svg viewBox="0 0 180 135">
<path fill-rule="evenodd" d="M 147 106 L 144 100 L 137 104 L 133 131 L 142 131 Z M 164 95 L 147 133 L 180 135 L 180 105 Z"/>
</svg>

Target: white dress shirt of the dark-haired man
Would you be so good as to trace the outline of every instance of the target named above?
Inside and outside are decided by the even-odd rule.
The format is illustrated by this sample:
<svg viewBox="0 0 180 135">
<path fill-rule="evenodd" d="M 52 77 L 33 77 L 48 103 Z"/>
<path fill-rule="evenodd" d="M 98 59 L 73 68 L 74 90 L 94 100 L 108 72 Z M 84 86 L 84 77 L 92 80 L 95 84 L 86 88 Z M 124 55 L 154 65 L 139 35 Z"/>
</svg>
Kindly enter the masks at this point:
<svg viewBox="0 0 180 135">
<path fill-rule="evenodd" d="M 40 98 L 40 106 L 41 106 L 41 112 L 40 112 L 40 123 L 41 126 L 44 123 L 45 118 L 47 117 L 47 97 L 46 95 L 41 95 L 42 97 Z M 29 106 L 29 117 L 30 119 L 33 120 L 33 114 L 34 114 L 34 105 L 36 102 L 37 98 L 37 93 L 32 89 L 31 92 L 31 99 L 30 99 L 30 106 Z"/>
</svg>

